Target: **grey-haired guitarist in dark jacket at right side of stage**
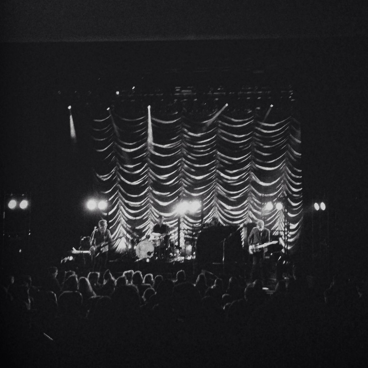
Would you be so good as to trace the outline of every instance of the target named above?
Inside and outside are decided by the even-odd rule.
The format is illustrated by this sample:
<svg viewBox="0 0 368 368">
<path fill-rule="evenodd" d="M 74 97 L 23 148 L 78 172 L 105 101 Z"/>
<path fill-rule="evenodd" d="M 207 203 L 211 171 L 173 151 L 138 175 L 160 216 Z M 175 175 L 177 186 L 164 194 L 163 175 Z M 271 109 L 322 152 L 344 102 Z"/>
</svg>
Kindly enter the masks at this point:
<svg viewBox="0 0 368 368">
<path fill-rule="evenodd" d="M 256 227 L 252 228 L 251 233 L 248 236 L 248 245 L 262 245 L 270 241 L 270 231 L 265 228 L 265 223 L 262 220 L 258 220 Z M 265 248 L 261 248 L 258 252 L 253 254 L 252 270 L 251 270 L 251 280 L 255 281 L 258 276 L 261 277 L 263 283 L 265 282 L 265 274 L 263 270 L 263 259 Z"/>
</svg>

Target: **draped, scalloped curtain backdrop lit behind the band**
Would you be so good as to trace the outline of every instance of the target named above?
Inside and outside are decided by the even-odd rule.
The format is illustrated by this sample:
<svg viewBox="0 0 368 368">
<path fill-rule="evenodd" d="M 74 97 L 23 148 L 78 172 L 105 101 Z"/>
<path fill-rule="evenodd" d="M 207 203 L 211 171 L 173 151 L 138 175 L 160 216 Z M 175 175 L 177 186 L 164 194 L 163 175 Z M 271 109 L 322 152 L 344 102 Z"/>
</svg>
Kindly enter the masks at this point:
<svg viewBox="0 0 368 368">
<path fill-rule="evenodd" d="M 132 235 L 149 234 L 162 214 L 175 243 L 180 222 L 181 246 L 213 217 L 223 225 L 263 219 L 293 252 L 302 222 L 301 140 L 286 92 L 229 104 L 214 96 L 72 106 L 77 139 L 84 126 L 93 142 L 95 188 L 109 200 L 104 217 L 113 237 L 123 236 L 116 251 Z M 286 210 L 275 207 L 279 199 Z M 178 215 L 184 200 L 199 200 L 201 209 Z"/>
</svg>

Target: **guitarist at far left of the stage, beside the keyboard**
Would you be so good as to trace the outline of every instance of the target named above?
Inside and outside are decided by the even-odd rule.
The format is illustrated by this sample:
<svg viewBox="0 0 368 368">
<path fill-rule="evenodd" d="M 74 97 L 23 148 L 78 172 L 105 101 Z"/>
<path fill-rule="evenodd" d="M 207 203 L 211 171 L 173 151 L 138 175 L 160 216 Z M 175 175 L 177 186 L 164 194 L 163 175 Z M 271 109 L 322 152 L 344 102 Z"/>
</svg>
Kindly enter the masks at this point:
<svg viewBox="0 0 368 368">
<path fill-rule="evenodd" d="M 107 229 L 107 221 L 100 220 L 98 228 L 93 230 L 92 240 L 92 257 L 93 270 L 98 270 L 100 273 L 106 270 L 107 257 L 109 255 L 109 248 L 112 245 L 112 237 L 110 230 Z"/>
</svg>

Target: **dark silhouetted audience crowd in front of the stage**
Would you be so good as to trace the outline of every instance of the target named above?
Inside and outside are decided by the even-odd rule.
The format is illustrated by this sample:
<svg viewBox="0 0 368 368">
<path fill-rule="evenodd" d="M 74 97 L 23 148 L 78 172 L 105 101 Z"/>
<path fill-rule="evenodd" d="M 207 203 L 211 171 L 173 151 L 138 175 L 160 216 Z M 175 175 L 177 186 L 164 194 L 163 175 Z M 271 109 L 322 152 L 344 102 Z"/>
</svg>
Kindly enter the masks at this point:
<svg viewBox="0 0 368 368">
<path fill-rule="evenodd" d="M 300 269 L 273 292 L 235 275 L 176 279 L 50 267 L 1 277 L 12 367 L 324 367 L 367 365 L 367 280 L 310 287 Z M 5 355 L 4 355 L 5 356 Z"/>
</svg>

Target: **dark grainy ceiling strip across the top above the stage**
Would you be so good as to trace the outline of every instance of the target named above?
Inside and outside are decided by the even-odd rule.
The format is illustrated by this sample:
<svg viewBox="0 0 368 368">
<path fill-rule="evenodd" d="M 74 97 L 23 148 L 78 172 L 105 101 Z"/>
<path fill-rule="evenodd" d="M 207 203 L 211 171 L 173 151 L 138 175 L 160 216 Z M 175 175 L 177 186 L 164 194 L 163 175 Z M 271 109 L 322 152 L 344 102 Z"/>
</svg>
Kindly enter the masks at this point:
<svg viewBox="0 0 368 368">
<path fill-rule="evenodd" d="M 365 8 L 348 0 L 18 0 L 1 7 L 3 42 L 367 35 Z"/>
</svg>

